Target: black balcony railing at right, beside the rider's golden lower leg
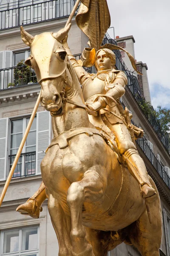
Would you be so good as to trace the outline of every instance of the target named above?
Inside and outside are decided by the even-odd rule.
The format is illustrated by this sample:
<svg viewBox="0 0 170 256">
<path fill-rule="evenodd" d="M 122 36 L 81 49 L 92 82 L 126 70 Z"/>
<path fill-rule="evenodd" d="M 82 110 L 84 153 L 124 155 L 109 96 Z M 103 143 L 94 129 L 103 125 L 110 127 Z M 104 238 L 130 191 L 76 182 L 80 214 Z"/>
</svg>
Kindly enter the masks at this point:
<svg viewBox="0 0 170 256">
<path fill-rule="evenodd" d="M 139 147 L 142 149 L 144 154 L 147 156 L 147 158 L 150 160 L 150 163 L 154 166 L 156 171 L 161 176 L 162 180 L 164 180 L 164 183 L 168 186 L 170 189 L 170 177 L 166 173 L 164 167 L 161 165 L 159 160 L 154 155 L 153 151 L 150 149 L 149 145 L 147 144 L 147 140 L 143 138 L 137 139 L 136 142 L 138 143 Z"/>
</svg>

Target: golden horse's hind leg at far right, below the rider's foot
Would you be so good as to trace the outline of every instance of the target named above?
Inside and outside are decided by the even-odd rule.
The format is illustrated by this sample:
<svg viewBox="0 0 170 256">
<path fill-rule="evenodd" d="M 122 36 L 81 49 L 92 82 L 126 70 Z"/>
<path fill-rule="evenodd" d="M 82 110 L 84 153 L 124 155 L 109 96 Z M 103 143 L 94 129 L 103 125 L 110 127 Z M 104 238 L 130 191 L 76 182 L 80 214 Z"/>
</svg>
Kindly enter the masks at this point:
<svg viewBox="0 0 170 256">
<path fill-rule="evenodd" d="M 158 195 L 158 191 L 156 192 Z M 162 236 L 162 215 L 159 198 L 150 203 L 149 207 L 152 224 L 150 224 L 145 210 L 139 221 L 130 225 L 129 239 L 142 256 L 159 256 Z"/>
</svg>

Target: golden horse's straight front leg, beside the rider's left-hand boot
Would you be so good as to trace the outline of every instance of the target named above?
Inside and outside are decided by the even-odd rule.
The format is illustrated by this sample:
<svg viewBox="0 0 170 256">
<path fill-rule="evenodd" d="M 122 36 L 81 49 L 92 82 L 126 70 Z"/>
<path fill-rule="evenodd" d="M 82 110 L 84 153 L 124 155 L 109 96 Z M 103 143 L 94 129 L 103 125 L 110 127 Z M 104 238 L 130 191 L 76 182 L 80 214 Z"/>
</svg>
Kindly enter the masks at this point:
<svg viewBox="0 0 170 256">
<path fill-rule="evenodd" d="M 72 256 L 70 241 L 71 218 L 65 215 L 57 199 L 48 192 L 46 193 L 48 196 L 48 211 L 59 243 L 59 256 Z"/>
</svg>

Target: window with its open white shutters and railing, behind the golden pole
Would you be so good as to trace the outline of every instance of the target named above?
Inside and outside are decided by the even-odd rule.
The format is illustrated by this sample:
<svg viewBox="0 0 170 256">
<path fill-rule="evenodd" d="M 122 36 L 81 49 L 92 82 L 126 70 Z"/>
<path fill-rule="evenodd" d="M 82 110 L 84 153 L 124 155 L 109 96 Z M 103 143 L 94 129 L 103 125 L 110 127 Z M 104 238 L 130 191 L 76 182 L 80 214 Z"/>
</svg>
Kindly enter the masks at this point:
<svg viewBox="0 0 170 256">
<path fill-rule="evenodd" d="M 27 113 L 27 110 L 26 110 Z M 29 116 L 0 118 L 0 181 L 6 180 L 20 146 Z M 49 111 L 38 111 L 31 126 L 14 176 L 40 175 L 40 164 L 45 150 L 51 143 L 51 115 Z"/>
</svg>

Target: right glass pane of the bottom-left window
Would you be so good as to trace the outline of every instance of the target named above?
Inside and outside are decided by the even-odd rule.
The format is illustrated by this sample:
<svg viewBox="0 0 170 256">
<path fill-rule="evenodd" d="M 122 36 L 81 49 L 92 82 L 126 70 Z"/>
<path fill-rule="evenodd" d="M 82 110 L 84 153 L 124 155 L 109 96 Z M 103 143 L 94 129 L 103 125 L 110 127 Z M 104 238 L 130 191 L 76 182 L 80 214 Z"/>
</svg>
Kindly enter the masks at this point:
<svg viewBox="0 0 170 256">
<path fill-rule="evenodd" d="M 37 228 L 23 230 L 22 250 L 37 249 L 38 235 Z"/>
</svg>

